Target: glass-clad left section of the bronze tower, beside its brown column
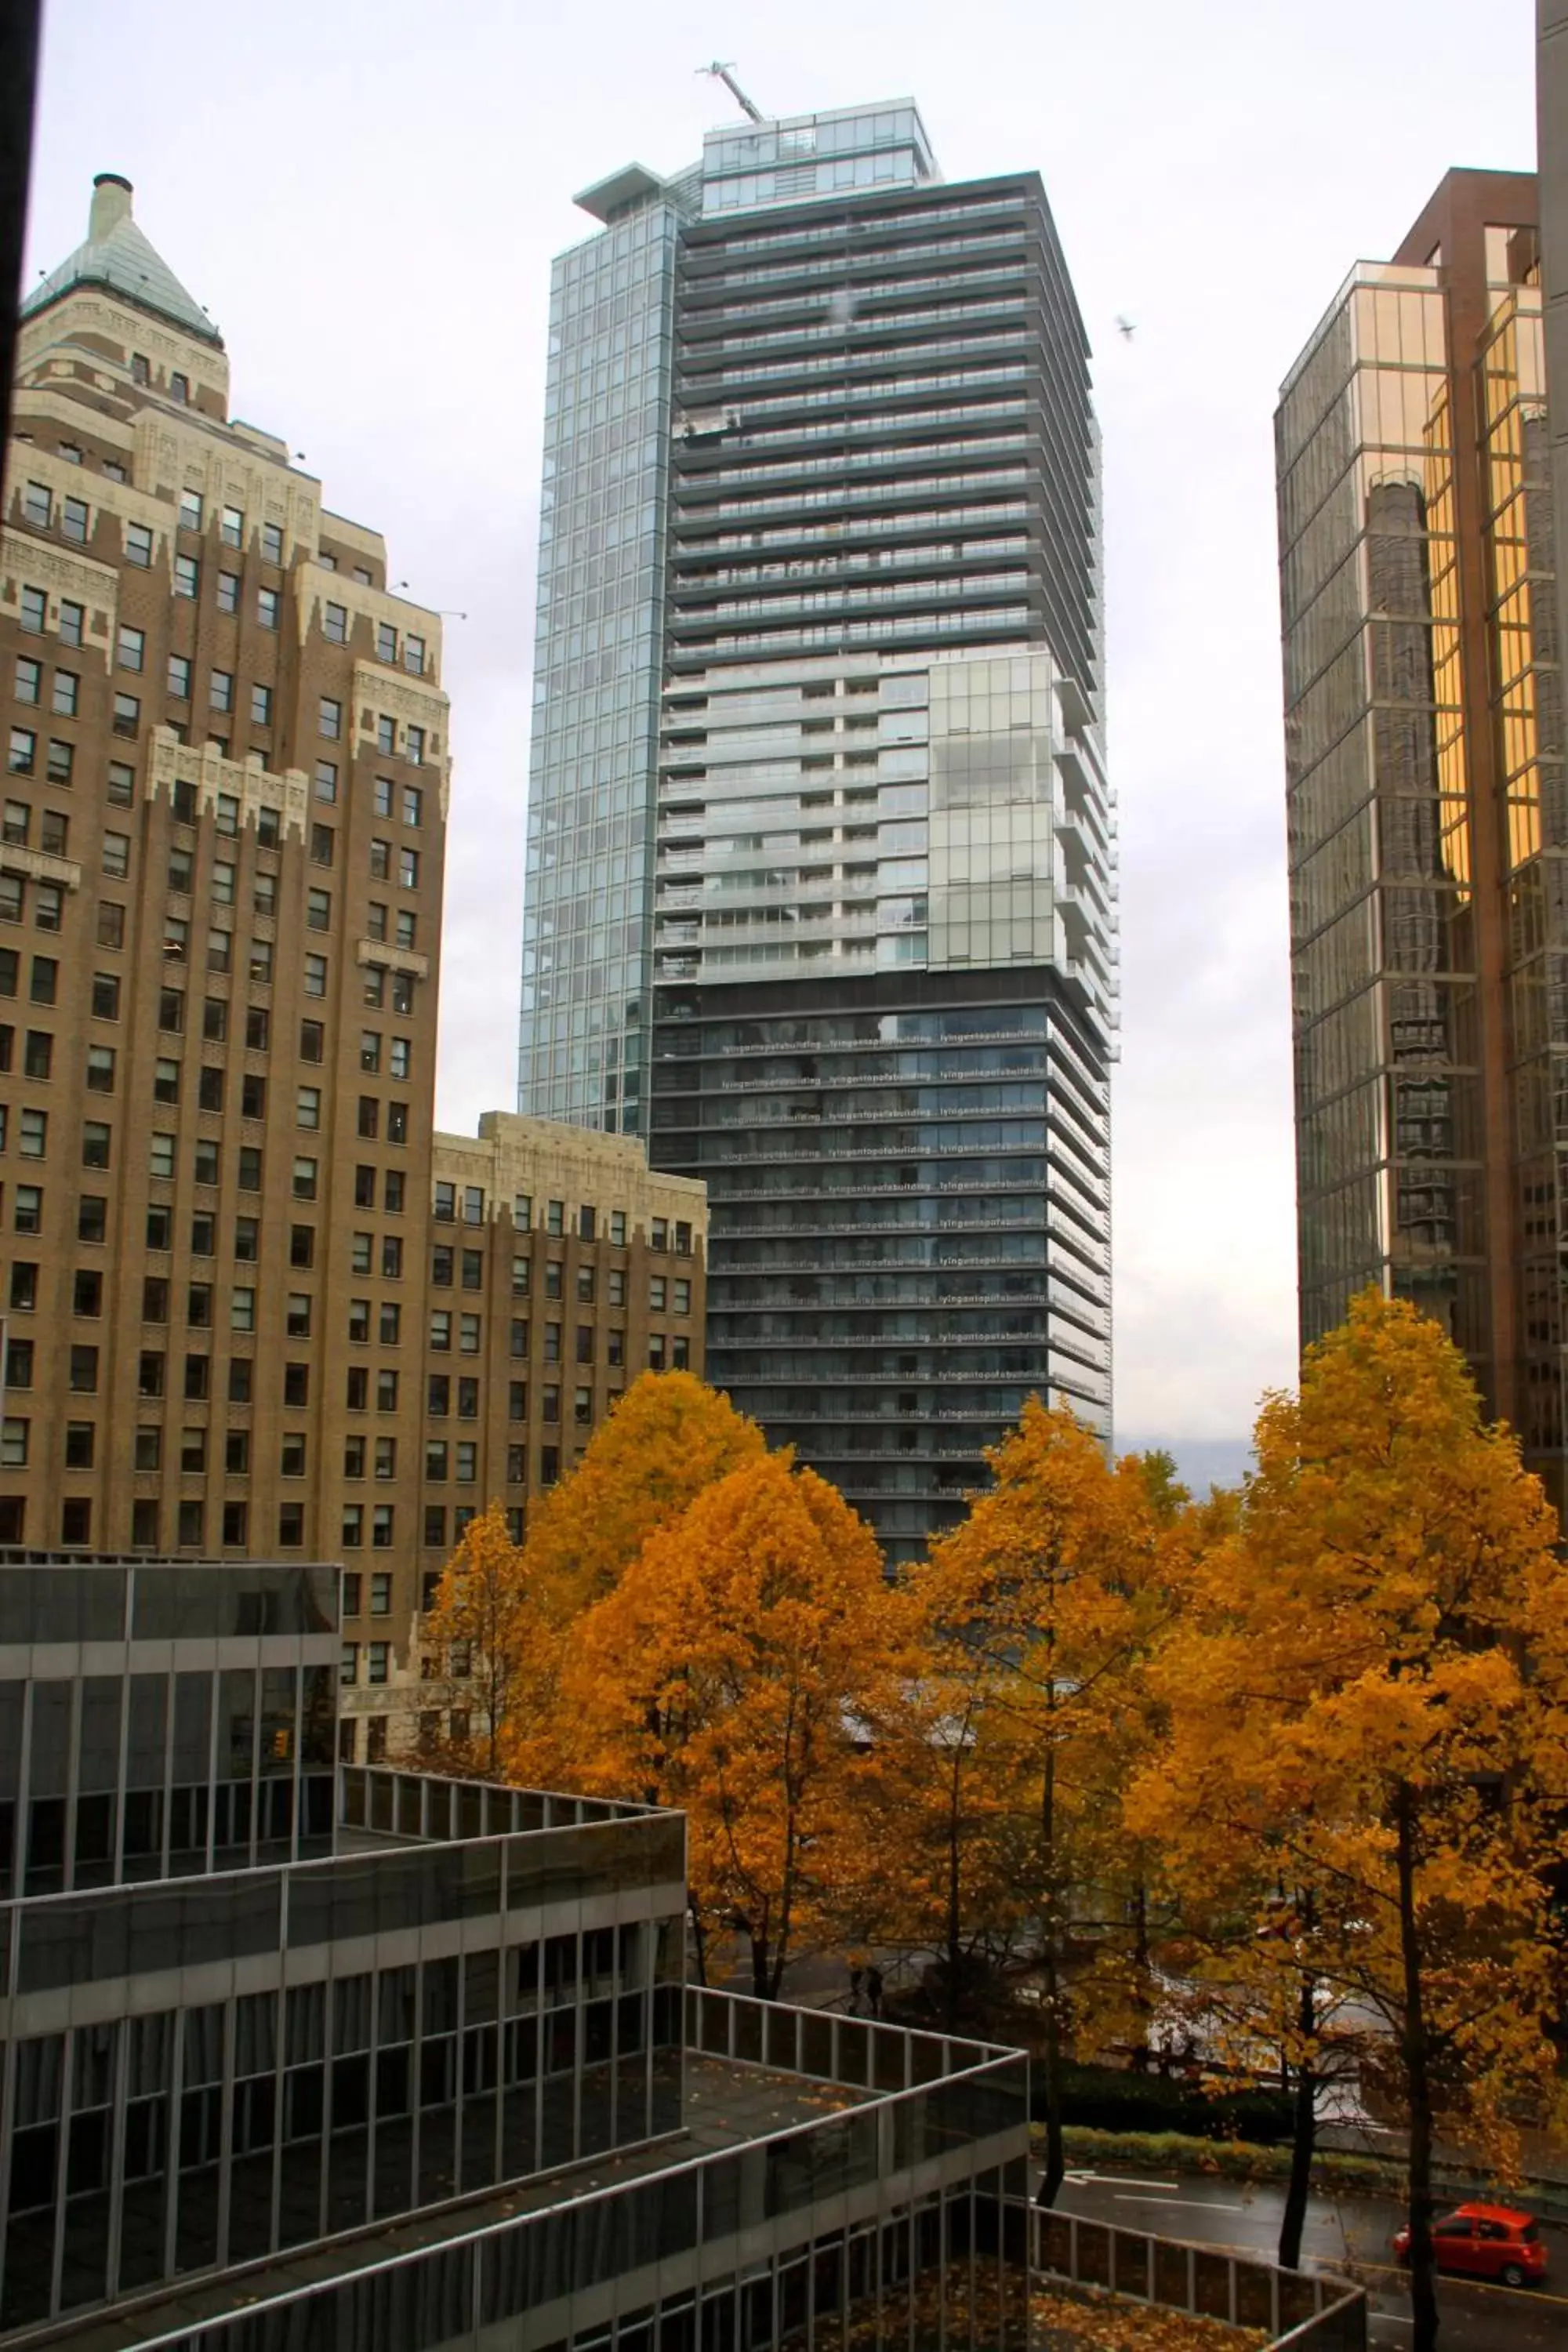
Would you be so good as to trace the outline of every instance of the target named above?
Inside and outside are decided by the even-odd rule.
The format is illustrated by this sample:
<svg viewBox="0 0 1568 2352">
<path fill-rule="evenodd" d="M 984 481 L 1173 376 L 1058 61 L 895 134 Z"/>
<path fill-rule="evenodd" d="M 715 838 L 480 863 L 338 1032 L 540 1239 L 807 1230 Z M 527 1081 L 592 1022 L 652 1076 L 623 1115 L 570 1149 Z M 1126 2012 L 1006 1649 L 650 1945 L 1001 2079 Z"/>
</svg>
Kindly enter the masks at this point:
<svg viewBox="0 0 1568 2352">
<path fill-rule="evenodd" d="M 1453 400 L 1434 268 L 1361 266 L 1276 416 L 1302 1341 L 1366 1282 L 1483 1367 Z"/>
</svg>

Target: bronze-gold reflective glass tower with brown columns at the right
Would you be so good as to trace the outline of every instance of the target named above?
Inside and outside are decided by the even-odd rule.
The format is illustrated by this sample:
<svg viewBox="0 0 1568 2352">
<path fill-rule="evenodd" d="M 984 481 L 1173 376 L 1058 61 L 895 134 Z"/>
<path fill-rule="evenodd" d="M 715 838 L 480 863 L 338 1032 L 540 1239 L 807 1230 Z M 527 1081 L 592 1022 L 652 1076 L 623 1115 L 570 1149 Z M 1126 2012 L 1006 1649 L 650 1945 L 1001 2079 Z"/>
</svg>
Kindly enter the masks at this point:
<svg viewBox="0 0 1568 2352">
<path fill-rule="evenodd" d="M 1568 936 L 1533 181 L 1448 174 L 1276 416 L 1302 1338 L 1436 1315 L 1563 1498 Z"/>
</svg>

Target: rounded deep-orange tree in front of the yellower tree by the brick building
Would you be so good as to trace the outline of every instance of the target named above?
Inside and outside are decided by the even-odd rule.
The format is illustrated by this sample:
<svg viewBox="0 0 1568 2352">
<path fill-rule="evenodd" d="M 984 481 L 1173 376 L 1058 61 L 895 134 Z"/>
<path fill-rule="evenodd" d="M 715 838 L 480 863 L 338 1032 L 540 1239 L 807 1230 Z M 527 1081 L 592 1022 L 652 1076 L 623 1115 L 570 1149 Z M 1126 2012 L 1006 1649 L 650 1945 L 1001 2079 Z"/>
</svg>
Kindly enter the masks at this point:
<svg viewBox="0 0 1568 2352">
<path fill-rule="evenodd" d="M 788 1454 L 705 1486 L 574 1625 L 574 1778 L 682 1806 L 698 1952 L 733 1924 L 764 1999 L 856 1900 L 867 1748 L 912 1679 L 912 1637 L 872 1531 Z"/>
</svg>

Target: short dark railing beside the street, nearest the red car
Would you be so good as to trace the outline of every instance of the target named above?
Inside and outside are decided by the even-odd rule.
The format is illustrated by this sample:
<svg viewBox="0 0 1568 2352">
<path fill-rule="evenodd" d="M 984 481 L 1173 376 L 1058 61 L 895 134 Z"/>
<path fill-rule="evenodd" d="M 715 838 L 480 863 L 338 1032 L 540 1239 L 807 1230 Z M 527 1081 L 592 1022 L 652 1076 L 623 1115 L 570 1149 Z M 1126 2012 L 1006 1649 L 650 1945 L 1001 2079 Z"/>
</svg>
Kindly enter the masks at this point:
<svg viewBox="0 0 1568 2352">
<path fill-rule="evenodd" d="M 1366 2352 L 1363 2288 L 1218 2246 L 1187 2246 L 1147 2230 L 1034 2206 L 1030 2265 L 1037 2274 L 1098 2286 L 1133 2303 L 1267 2328 L 1269 2345 L 1291 2345 L 1291 2352 Z"/>
</svg>

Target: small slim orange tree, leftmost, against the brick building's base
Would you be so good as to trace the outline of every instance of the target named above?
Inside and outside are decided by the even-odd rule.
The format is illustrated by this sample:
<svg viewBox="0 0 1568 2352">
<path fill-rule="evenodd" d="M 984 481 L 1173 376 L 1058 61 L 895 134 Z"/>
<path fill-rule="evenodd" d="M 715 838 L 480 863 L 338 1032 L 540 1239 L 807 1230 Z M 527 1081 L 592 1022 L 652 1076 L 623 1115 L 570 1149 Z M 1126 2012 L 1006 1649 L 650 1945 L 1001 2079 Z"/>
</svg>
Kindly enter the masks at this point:
<svg viewBox="0 0 1568 2352">
<path fill-rule="evenodd" d="M 527 1618 L 524 1555 L 512 1543 L 501 1503 L 468 1522 L 442 1569 L 421 1625 L 433 1691 L 468 1715 L 461 1738 L 437 1743 L 433 1762 L 494 1780 L 522 1689 Z"/>
</svg>

